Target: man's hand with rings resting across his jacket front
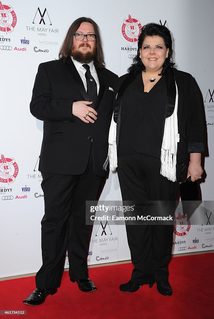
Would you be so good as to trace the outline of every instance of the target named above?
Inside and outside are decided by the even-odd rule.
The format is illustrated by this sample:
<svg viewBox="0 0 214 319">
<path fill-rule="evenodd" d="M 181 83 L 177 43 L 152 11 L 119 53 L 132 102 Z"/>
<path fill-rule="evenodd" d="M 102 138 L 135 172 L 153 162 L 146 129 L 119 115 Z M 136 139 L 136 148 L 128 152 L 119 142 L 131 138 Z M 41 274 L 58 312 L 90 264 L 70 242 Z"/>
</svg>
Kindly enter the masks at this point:
<svg viewBox="0 0 214 319">
<path fill-rule="evenodd" d="M 73 102 L 72 114 L 74 116 L 77 116 L 80 120 L 82 120 L 85 123 L 89 123 L 89 122 L 94 123 L 94 120 L 97 119 L 96 117 L 97 112 L 93 108 L 90 108 L 88 104 L 92 104 L 92 102 L 89 102 L 89 101 Z M 87 115 L 88 112 L 91 112 L 90 115 Z M 85 115 L 87 116 L 85 117 Z"/>
</svg>

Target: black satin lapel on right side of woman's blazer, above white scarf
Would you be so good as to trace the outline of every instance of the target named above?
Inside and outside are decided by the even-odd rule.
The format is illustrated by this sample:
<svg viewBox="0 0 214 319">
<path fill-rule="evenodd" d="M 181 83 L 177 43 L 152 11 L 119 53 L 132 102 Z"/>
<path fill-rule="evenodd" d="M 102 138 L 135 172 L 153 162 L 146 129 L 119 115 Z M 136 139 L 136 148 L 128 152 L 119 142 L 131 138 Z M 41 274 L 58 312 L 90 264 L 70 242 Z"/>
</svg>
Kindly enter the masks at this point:
<svg viewBox="0 0 214 319">
<path fill-rule="evenodd" d="M 167 97 L 166 97 L 166 109 L 165 118 L 171 116 L 174 112 L 175 98 L 176 98 L 176 87 L 173 70 L 169 67 L 165 73 Z"/>
</svg>

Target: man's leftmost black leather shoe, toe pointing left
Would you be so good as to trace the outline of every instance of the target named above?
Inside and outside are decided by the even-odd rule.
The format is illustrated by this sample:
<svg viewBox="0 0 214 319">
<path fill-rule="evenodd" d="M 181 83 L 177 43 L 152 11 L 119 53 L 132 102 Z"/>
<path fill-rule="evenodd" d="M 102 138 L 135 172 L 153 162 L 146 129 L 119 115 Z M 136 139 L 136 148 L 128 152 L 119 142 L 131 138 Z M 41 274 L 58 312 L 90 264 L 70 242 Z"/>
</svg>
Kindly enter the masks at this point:
<svg viewBox="0 0 214 319">
<path fill-rule="evenodd" d="M 23 303 L 28 306 L 39 306 L 45 302 L 45 298 L 48 295 L 54 295 L 57 292 L 57 288 L 36 288 L 26 300 L 23 300 Z"/>
</svg>

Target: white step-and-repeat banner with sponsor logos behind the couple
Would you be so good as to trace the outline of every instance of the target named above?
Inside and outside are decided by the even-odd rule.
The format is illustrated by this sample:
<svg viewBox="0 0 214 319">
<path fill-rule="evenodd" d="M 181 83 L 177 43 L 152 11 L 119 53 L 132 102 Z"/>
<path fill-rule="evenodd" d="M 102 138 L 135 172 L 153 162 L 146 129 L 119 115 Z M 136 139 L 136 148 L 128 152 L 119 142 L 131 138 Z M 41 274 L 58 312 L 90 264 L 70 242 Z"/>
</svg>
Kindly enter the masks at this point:
<svg viewBox="0 0 214 319">
<path fill-rule="evenodd" d="M 203 201 L 213 199 L 213 1 L 154 0 L 151 6 L 140 0 L 134 4 L 94 0 L 90 5 L 82 0 L 75 5 L 68 0 L 60 6 L 50 0 L 0 1 L 0 277 L 36 272 L 41 266 L 44 201 L 38 163 L 43 123 L 30 114 L 29 103 L 39 63 L 57 59 L 70 24 L 80 16 L 91 17 L 100 26 L 107 68 L 119 76 L 132 63 L 144 24 L 156 22 L 169 28 L 177 68 L 191 73 L 202 93 L 209 152 L 200 189 Z M 100 200 L 121 200 L 117 174 L 109 174 Z M 212 208 L 202 202 L 197 209 L 204 216 L 196 222 L 197 210 L 187 219 L 178 206 L 174 254 L 213 249 Z M 89 264 L 128 259 L 124 225 L 94 226 Z"/>
</svg>

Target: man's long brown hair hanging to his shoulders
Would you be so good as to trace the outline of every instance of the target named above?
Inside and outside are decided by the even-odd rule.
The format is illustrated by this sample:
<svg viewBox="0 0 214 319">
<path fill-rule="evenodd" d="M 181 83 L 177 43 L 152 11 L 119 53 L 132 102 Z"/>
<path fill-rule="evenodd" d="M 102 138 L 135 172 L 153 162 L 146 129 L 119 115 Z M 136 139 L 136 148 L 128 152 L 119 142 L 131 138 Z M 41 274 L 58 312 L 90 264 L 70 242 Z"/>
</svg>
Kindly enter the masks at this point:
<svg viewBox="0 0 214 319">
<path fill-rule="evenodd" d="M 73 46 L 74 33 L 77 31 L 78 27 L 81 25 L 82 22 L 89 22 L 94 27 L 94 32 L 97 36 L 95 40 L 97 54 L 96 54 L 96 58 L 94 59 L 94 65 L 95 67 L 98 67 L 98 68 L 104 68 L 105 62 L 104 62 L 104 54 L 102 49 L 102 40 L 100 37 L 100 28 L 96 24 L 96 22 L 94 22 L 91 18 L 86 18 L 86 17 L 78 18 L 71 24 L 59 51 L 59 60 L 62 60 L 65 63 L 68 60 L 68 58 L 70 58 L 71 49 Z"/>
</svg>

